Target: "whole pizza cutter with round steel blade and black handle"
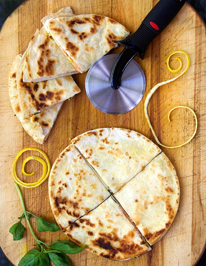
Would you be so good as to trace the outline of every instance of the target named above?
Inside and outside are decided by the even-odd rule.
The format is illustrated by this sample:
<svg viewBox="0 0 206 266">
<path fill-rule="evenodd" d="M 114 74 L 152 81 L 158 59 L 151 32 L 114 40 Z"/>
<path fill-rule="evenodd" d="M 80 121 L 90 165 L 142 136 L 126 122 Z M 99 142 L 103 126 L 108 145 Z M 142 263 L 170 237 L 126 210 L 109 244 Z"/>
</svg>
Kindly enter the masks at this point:
<svg viewBox="0 0 206 266">
<path fill-rule="evenodd" d="M 145 92 L 145 75 L 133 60 L 144 58 L 146 49 L 177 15 L 186 0 L 160 0 L 139 28 L 124 40 L 119 54 L 105 55 L 89 69 L 85 89 L 91 103 L 108 114 L 123 114 L 135 108 Z"/>
</svg>

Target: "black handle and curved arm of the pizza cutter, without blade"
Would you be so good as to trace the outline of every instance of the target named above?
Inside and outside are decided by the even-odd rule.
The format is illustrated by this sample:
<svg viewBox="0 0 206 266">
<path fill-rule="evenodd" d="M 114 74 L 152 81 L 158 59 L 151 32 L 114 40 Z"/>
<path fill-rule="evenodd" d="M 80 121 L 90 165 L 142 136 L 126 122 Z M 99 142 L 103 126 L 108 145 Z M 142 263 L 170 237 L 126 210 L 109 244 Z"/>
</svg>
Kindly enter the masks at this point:
<svg viewBox="0 0 206 266">
<path fill-rule="evenodd" d="M 186 0 L 160 0 L 144 18 L 139 28 L 124 40 L 115 41 L 125 46 L 111 71 L 111 87 L 118 89 L 121 76 L 129 62 L 137 55 L 144 58 L 146 49 L 177 15 Z"/>
</svg>

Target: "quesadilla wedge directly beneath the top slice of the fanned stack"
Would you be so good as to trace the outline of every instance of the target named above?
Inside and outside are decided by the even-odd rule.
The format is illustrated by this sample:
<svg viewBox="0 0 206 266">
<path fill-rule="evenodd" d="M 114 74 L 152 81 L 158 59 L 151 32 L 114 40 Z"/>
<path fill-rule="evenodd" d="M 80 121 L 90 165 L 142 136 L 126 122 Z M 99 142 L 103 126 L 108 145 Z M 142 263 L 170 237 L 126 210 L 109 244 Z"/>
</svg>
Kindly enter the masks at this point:
<svg viewBox="0 0 206 266">
<path fill-rule="evenodd" d="M 62 8 L 57 13 L 45 17 L 74 16 L 70 7 Z M 68 58 L 42 27 L 36 30 L 28 44 L 25 63 L 23 66 L 23 81 L 38 82 L 65 75 L 78 73 Z"/>
</svg>

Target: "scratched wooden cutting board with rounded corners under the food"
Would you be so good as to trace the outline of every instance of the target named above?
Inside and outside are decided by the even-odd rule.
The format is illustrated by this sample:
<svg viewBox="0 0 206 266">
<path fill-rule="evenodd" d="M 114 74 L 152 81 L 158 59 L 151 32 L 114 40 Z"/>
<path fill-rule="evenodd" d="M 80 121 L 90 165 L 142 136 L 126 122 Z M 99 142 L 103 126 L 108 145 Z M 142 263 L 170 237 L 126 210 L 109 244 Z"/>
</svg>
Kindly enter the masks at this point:
<svg viewBox="0 0 206 266">
<path fill-rule="evenodd" d="M 151 140 L 154 137 L 144 116 L 144 101 L 150 89 L 158 82 L 176 74 L 168 71 L 166 58 L 175 50 L 186 51 L 191 58 L 189 70 L 178 80 L 158 88 L 149 104 L 149 116 L 158 135 L 165 145 L 178 145 L 186 141 L 194 131 L 194 118 L 190 111 L 176 109 L 167 121 L 168 111 L 177 105 L 192 108 L 198 117 L 198 131 L 194 139 L 181 148 L 162 150 L 173 163 L 180 181 L 181 197 L 179 211 L 171 228 L 161 241 L 154 244 L 152 251 L 135 261 L 118 262 L 100 258 L 83 251 L 69 255 L 72 266 L 85 265 L 194 265 L 201 257 L 206 244 L 206 34 L 205 24 L 187 3 L 171 24 L 149 45 L 144 60 L 136 58 L 146 77 L 146 91 L 140 104 L 122 115 L 108 115 L 98 111 L 85 93 L 86 73 L 74 75 L 81 93 L 65 101 L 54 127 L 44 145 L 38 145 L 23 130 L 14 116 L 8 97 L 8 71 L 16 55 L 23 53 L 41 18 L 71 6 L 75 14 L 96 13 L 114 18 L 134 32 L 143 18 L 156 4 L 156 0 L 28 0 L 7 19 L 0 34 L 0 117 L 1 117 L 1 204 L 0 245 L 6 256 L 15 265 L 36 244 L 25 221 L 24 238 L 13 241 L 9 228 L 18 221 L 22 207 L 11 175 L 15 155 L 26 147 L 37 147 L 48 155 L 51 164 L 70 143 L 70 138 L 94 128 L 122 127 L 138 131 Z M 115 53 L 121 52 L 119 47 Z M 186 64 L 184 56 L 183 68 Z M 171 64 L 175 65 L 175 60 Z M 177 65 L 176 65 L 177 67 Z M 155 142 L 155 141 L 154 141 Z M 21 163 L 20 160 L 19 163 Z M 27 168 L 32 168 L 28 164 Z M 42 168 L 36 165 L 40 175 Z M 28 211 L 48 221 L 55 221 L 48 198 L 48 180 L 38 188 L 21 188 Z M 36 231 L 36 221 L 31 224 L 38 238 L 47 244 L 58 239 L 67 239 L 61 232 Z"/>
</svg>

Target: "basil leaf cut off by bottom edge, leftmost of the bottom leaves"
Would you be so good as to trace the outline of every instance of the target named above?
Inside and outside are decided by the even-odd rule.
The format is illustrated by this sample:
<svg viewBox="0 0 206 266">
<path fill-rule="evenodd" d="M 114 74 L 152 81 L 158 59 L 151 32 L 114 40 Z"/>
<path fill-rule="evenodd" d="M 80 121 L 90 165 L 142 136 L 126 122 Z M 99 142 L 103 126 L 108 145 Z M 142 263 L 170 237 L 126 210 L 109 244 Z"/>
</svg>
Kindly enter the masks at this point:
<svg viewBox="0 0 206 266">
<path fill-rule="evenodd" d="M 40 254 L 37 249 L 30 249 L 18 263 L 18 266 L 40 266 Z"/>
</svg>

